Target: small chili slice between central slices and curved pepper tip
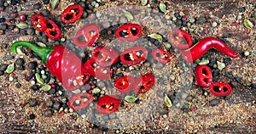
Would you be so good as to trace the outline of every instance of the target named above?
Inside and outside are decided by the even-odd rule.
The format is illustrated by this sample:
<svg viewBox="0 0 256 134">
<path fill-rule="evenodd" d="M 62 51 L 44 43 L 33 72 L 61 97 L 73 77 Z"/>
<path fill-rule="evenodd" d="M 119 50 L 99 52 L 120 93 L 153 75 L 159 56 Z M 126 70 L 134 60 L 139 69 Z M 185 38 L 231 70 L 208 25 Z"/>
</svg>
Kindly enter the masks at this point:
<svg viewBox="0 0 256 134">
<path fill-rule="evenodd" d="M 152 50 L 152 57 L 162 64 L 166 64 L 171 61 L 171 54 L 166 52 L 164 48 L 155 48 Z"/>
</svg>

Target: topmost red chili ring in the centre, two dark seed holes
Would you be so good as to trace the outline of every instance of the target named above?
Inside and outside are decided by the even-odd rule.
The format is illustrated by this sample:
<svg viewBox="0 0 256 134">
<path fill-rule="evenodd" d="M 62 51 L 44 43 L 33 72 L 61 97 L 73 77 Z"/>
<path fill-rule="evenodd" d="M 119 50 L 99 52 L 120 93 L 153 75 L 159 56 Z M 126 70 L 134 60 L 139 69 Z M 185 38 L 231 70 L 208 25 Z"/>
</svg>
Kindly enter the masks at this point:
<svg viewBox="0 0 256 134">
<path fill-rule="evenodd" d="M 131 33 L 131 29 L 132 28 L 137 28 L 137 34 L 136 35 L 133 35 Z M 128 36 L 127 37 L 124 37 L 124 36 L 119 36 L 119 32 L 120 31 L 127 31 L 128 32 Z M 131 23 L 127 23 L 125 25 L 121 25 L 115 32 L 115 36 L 119 39 L 119 40 L 125 40 L 125 41 L 128 41 L 128 42 L 134 42 L 137 40 L 137 38 L 139 36 L 141 36 L 142 34 L 142 31 L 143 31 L 143 28 L 141 25 L 138 25 L 138 24 L 131 24 Z"/>
</svg>

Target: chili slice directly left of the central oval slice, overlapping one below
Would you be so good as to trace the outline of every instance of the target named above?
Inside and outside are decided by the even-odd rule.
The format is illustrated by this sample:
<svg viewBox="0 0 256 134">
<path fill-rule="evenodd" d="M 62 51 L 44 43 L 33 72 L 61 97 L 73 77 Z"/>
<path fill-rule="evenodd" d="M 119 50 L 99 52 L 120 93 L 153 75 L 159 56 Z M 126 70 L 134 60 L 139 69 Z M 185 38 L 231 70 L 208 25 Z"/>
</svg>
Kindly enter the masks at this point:
<svg viewBox="0 0 256 134">
<path fill-rule="evenodd" d="M 102 53 L 103 56 L 99 56 L 99 53 Z M 106 61 L 105 59 L 110 58 L 111 60 Z M 111 47 L 96 47 L 91 54 L 91 59 L 96 61 L 96 64 L 101 66 L 109 66 L 118 62 L 119 53 L 113 50 Z"/>
</svg>

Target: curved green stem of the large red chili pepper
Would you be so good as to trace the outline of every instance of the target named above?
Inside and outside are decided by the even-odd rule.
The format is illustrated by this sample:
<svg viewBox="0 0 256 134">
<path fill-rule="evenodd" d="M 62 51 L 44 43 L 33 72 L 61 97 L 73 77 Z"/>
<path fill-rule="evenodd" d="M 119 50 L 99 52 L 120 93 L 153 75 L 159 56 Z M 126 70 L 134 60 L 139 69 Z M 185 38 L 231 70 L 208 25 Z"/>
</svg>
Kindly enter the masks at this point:
<svg viewBox="0 0 256 134">
<path fill-rule="evenodd" d="M 47 62 L 49 53 L 53 51 L 52 47 L 38 47 L 30 42 L 19 41 L 19 42 L 14 42 L 12 44 L 12 46 L 10 47 L 10 52 L 17 53 L 17 47 L 20 47 L 20 46 L 28 47 L 32 49 L 32 51 L 34 53 L 37 53 L 44 63 Z"/>
</svg>

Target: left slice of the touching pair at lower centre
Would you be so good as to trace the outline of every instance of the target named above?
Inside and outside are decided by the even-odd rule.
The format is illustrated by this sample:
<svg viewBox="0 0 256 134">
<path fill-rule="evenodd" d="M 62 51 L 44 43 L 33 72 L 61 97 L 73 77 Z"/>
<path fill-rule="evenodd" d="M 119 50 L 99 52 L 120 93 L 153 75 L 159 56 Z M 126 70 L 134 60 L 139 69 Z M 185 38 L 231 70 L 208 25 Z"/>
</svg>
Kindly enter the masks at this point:
<svg viewBox="0 0 256 134">
<path fill-rule="evenodd" d="M 135 79 L 132 75 L 122 76 L 118 80 L 114 81 L 114 87 L 122 93 L 130 92 L 133 88 L 134 80 Z"/>
</svg>

